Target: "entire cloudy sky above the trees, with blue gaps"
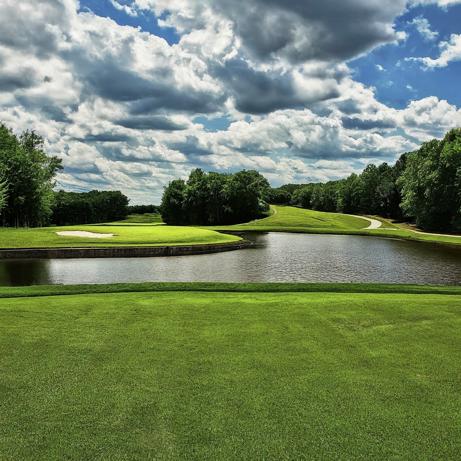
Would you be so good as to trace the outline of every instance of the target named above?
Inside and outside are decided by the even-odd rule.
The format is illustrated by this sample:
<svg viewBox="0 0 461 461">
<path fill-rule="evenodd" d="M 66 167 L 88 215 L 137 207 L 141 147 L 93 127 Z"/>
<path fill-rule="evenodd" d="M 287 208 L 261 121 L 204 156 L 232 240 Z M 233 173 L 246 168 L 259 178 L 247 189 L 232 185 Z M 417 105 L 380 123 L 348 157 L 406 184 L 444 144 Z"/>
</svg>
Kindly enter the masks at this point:
<svg viewBox="0 0 461 461">
<path fill-rule="evenodd" d="M 58 189 L 160 203 L 204 171 L 272 187 L 393 164 L 461 126 L 461 0 L 2 0 L 0 121 Z"/>
</svg>

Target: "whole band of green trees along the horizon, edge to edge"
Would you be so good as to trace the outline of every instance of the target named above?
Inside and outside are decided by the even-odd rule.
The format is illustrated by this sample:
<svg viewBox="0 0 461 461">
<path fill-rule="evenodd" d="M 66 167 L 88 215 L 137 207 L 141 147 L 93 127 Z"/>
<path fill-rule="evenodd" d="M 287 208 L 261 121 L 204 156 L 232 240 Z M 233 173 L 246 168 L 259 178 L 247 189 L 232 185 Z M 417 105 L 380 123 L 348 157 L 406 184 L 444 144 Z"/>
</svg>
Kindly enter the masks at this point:
<svg viewBox="0 0 461 461">
<path fill-rule="evenodd" d="M 461 231 L 461 129 L 423 142 L 393 166 L 369 164 L 360 175 L 327 183 L 271 188 L 258 171 L 193 170 L 165 186 L 160 207 L 129 206 L 120 191 L 53 189 L 62 160 L 48 156 L 35 130 L 20 136 L 0 123 L 0 225 L 93 224 L 129 213 L 161 213 L 167 224 L 227 225 L 269 214 L 269 203 L 318 211 L 405 219 L 423 229 Z"/>
</svg>

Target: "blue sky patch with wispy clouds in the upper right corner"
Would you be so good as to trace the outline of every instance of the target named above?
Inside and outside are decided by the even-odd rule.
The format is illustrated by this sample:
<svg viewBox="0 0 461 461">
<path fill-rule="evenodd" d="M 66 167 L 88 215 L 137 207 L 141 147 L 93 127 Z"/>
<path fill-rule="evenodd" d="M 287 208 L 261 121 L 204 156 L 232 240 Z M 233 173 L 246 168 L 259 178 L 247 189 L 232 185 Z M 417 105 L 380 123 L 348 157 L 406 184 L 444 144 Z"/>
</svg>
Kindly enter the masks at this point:
<svg viewBox="0 0 461 461">
<path fill-rule="evenodd" d="M 415 18 L 426 19 L 431 30 L 438 33 L 437 37 L 425 39 L 412 24 Z M 461 34 L 461 4 L 449 8 L 415 6 L 396 18 L 396 30 L 404 30 L 408 38 L 398 46 L 384 45 L 350 62 L 350 66 L 356 69 L 355 79 L 376 87 L 377 99 L 390 107 L 402 109 L 411 100 L 431 95 L 460 107 L 458 78 L 461 61 L 451 62 L 447 67 L 424 70 L 419 63 L 405 61 L 405 58 L 429 56 L 436 59 L 439 42 L 448 41 L 451 34 Z M 379 70 L 378 65 L 384 71 Z"/>
</svg>

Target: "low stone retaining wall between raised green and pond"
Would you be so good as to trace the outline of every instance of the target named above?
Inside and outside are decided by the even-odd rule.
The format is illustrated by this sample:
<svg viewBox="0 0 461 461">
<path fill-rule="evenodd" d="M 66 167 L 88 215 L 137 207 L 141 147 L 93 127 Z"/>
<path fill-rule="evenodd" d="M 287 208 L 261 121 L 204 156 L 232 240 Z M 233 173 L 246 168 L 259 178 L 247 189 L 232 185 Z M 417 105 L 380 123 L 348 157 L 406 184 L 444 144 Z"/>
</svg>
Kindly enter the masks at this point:
<svg viewBox="0 0 461 461">
<path fill-rule="evenodd" d="M 247 248 L 248 240 L 207 245 L 171 245 L 158 247 L 80 247 L 80 248 L 2 248 L 0 259 L 22 258 L 151 258 L 219 253 Z"/>
</svg>

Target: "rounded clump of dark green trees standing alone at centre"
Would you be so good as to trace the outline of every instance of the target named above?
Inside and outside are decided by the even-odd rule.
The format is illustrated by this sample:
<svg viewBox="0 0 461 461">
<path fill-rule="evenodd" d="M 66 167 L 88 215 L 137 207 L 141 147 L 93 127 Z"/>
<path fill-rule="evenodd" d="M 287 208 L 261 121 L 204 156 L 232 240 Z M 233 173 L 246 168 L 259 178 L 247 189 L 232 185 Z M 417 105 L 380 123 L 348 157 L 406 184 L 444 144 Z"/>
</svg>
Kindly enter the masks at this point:
<svg viewBox="0 0 461 461">
<path fill-rule="evenodd" d="M 269 190 L 267 179 L 254 170 L 230 174 L 195 168 L 187 181 L 165 186 L 160 212 L 173 225 L 244 223 L 269 214 Z"/>
</svg>

